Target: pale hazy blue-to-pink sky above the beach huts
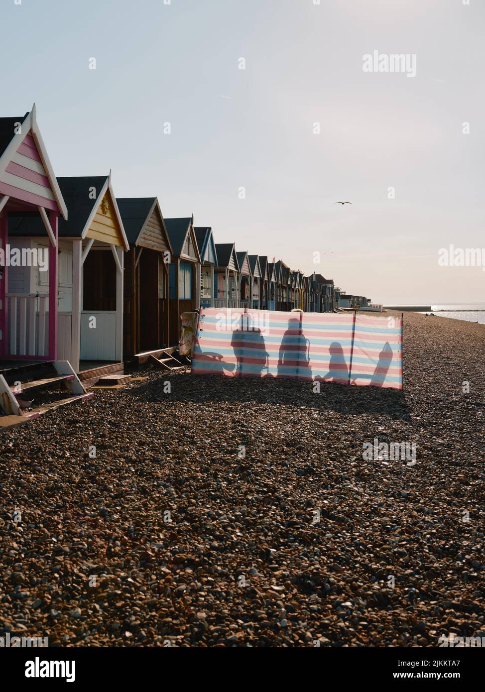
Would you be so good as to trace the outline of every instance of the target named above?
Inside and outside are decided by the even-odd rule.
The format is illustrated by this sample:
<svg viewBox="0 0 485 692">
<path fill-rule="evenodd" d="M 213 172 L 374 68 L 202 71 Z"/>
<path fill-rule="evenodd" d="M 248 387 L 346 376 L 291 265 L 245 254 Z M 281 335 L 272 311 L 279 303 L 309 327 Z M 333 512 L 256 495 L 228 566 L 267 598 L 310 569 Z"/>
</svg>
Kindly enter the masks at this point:
<svg viewBox="0 0 485 692">
<path fill-rule="evenodd" d="M 0 26 L 0 116 L 35 102 L 57 176 L 111 169 L 374 302 L 485 301 L 482 266 L 438 263 L 485 265 L 482 0 L 0 0 Z"/>
</svg>

